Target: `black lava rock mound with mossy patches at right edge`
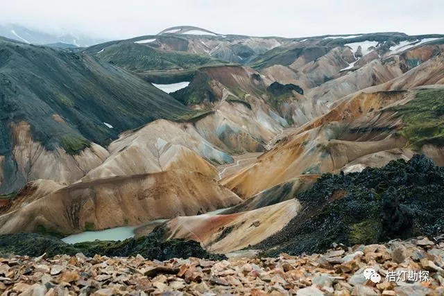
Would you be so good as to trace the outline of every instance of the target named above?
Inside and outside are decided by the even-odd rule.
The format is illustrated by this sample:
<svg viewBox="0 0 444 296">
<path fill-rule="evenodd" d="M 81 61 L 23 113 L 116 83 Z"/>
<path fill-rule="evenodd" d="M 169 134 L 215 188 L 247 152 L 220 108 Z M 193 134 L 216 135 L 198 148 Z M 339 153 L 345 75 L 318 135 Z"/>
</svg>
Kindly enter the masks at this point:
<svg viewBox="0 0 444 296">
<path fill-rule="evenodd" d="M 409 162 L 400 159 L 361 173 L 328 173 L 298 200 L 301 214 L 253 249 L 264 250 L 265 256 L 294 255 L 324 252 L 332 243 L 439 234 L 444 229 L 444 168 L 415 155 Z"/>
</svg>

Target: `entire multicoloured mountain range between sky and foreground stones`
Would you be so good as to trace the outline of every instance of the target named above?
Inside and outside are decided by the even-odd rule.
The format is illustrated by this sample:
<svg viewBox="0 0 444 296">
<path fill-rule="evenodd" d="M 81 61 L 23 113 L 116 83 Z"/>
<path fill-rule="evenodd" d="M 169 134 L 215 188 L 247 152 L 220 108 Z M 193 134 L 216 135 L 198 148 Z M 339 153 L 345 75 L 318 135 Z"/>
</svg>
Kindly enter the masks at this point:
<svg viewBox="0 0 444 296">
<path fill-rule="evenodd" d="M 0 234 L 276 256 L 444 229 L 444 35 L 6 37 Z"/>
</svg>

